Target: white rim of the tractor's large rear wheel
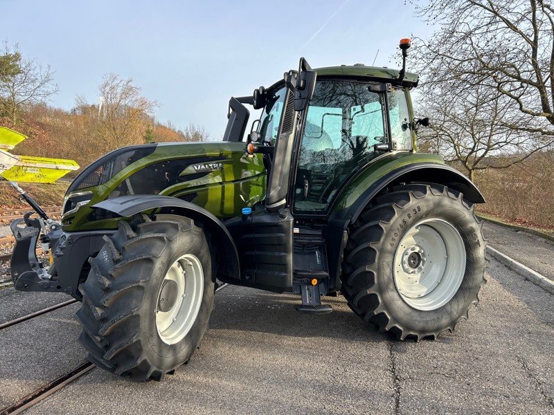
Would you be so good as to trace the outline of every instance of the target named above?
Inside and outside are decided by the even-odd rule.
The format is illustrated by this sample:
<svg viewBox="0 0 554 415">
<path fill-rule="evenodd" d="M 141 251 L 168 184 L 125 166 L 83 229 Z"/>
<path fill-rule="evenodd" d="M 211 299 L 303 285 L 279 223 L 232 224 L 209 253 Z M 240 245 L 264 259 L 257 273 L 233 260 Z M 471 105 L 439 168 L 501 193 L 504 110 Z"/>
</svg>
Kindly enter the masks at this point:
<svg viewBox="0 0 554 415">
<path fill-rule="evenodd" d="M 400 297 L 422 311 L 447 304 L 465 275 L 465 246 L 460 232 L 442 219 L 421 221 L 396 248 L 394 282 Z"/>
</svg>

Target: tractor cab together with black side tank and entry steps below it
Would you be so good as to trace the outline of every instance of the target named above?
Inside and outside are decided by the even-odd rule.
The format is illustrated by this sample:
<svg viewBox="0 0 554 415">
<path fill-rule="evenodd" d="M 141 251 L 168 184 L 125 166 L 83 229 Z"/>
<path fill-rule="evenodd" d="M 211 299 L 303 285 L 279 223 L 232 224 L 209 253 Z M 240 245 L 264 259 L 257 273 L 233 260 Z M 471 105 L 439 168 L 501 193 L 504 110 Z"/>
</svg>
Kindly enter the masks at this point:
<svg viewBox="0 0 554 415">
<path fill-rule="evenodd" d="M 412 74 L 334 66 L 298 71 L 253 95 L 231 98 L 224 140 L 242 141 L 249 110 L 262 109 L 246 135 L 247 156 L 267 169 L 265 200 L 226 221 L 240 256 L 241 283 L 301 293 L 299 310 L 327 312 L 320 295 L 340 287 L 339 219 L 348 185 L 378 160 L 415 151 Z M 245 222 L 248 226 L 245 226 Z"/>
</svg>

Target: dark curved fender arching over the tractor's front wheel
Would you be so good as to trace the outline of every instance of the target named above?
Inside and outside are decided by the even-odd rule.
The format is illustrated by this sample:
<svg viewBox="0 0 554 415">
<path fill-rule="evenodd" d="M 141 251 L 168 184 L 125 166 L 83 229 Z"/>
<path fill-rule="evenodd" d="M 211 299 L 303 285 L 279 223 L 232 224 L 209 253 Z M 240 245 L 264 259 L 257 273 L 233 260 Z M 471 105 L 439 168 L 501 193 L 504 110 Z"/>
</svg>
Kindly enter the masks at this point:
<svg viewBox="0 0 554 415">
<path fill-rule="evenodd" d="M 218 273 L 222 279 L 240 280 L 240 264 L 235 242 L 225 225 L 213 214 L 199 206 L 170 196 L 139 194 L 120 196 L 96 203 L 93 209 L 103 209 L 119 216 L 129 217 L 148 210 L 163 210 L 163 213 L 179 214 L 202 224 L 211 236 L 210 243 L 219 265 Z"/>
</svg>

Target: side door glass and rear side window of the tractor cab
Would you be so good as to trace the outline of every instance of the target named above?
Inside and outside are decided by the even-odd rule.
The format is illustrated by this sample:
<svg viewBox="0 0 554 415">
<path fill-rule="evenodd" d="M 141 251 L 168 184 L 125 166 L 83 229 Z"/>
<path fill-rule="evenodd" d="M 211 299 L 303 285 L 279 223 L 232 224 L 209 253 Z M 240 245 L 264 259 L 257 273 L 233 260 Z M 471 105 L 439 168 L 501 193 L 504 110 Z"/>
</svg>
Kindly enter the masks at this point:
<svg viewBox="0 0 554 415">
<path fill-rule="evenodd" d="M 411 148 L 404 90 L 387 93 L 366 82 L 318 80 L 298 154 L 295 212 L 326 212 L 346 179 L 382 154 L 375 145 L 388 144 L 387 116 L 395 147 Z"/>
</svg>

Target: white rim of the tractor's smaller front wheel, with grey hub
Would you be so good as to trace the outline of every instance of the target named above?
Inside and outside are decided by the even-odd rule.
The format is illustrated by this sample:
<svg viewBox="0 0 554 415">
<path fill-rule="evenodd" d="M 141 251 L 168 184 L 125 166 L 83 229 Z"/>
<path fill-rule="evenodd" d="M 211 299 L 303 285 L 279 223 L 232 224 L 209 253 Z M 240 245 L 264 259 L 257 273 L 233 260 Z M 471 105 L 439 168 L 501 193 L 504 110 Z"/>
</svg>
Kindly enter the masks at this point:
<svg viewBox="0 0 554 415">
<path fill-rule="evenodd" d="M 197 257 L 186 254 L 170 266 L 156 302 L 156 328 L 163 342 L 184 339 L 200 310 L 203 291 L 204 273 Z"/>
</svg>

